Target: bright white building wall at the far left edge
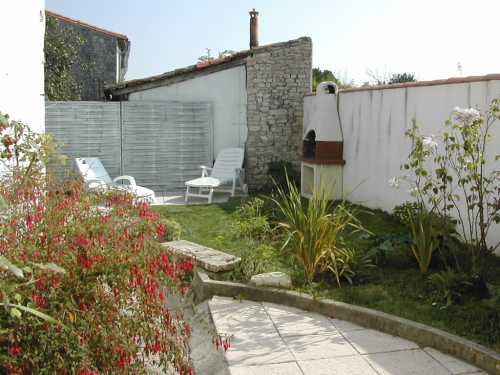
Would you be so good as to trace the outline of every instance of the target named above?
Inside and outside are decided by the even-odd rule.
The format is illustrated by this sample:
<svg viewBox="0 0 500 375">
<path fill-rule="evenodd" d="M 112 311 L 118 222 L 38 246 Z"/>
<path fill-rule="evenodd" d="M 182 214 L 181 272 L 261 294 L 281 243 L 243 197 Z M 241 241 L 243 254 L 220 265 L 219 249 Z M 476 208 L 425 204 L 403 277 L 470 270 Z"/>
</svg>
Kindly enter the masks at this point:
<svg viewBox="0 0 500 375">
<path fill-rule="evenodd" d="M 43 132 L 45 1 L 0 1 L 0 111 Z"/>
</svg>

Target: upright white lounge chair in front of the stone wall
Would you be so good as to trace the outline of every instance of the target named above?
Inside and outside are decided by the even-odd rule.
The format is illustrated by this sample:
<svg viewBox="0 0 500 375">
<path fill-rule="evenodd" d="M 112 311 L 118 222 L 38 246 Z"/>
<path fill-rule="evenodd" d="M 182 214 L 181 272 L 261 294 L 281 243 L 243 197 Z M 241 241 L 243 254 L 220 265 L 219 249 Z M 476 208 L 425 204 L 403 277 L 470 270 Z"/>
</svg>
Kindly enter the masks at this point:
<svg viewBox="0 0 500 375">
<path fill-rule="evenodd" d="M 201 177 L 186 182 L 186 197 L 207 198 L 208 203 L 212 203 L 214 189 L 227 191 L 234 197 L 236 182 L 239 181 L 241 189 L 246 192 L 246 185 L 243 184 L 243 158 L 245 152 L 242 148 L 226 148 L 219 152 L 213 168 L 201 166 Z M 210 172 L 210 173 L 209 173 Z M 222 185 L 231 184 L 230 189 L 221 189 Z M 192 193 L 190 189 L 197 188 L 198 193 Z M 208 190 L 208 194 L 203 191 Z"/>
</svg>

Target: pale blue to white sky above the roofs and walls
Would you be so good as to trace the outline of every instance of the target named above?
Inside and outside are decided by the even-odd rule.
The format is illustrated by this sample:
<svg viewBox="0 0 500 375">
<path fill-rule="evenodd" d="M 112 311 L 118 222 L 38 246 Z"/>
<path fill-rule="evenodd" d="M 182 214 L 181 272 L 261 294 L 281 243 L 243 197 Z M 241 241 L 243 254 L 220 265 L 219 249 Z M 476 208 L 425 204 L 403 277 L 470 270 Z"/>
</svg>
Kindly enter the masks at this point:
<svg viewBox="0 0 500 375">
<path fill-rule="evenodd" d="M 46 0 L 47 9 L 126 34 L 127 79 L 212 53 L 248 48 L 248 11 L 260 44 L 310 36 L 313 65 L 360 84 L 413 72 L 419 80 L 500 72 L 498 0 Z"/>
</svg>

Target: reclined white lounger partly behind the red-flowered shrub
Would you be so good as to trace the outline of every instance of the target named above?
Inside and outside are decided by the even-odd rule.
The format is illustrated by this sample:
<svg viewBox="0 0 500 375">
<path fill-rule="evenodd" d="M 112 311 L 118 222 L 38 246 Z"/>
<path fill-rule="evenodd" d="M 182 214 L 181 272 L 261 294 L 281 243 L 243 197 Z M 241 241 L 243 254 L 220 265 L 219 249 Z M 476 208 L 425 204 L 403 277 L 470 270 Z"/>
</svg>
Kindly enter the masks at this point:
<svg viewBox="0 0 500 375">
<path fill-rule="evenodd" d="M 155 201 L 155 192 L 137 185 L 132 176 L 118 176 L 111 179 L 99 158 L 76 158 L 75 164 L 87 190 L 123 189 L 134 195 L 138 201 L 149 203 Z"/>
</svg>

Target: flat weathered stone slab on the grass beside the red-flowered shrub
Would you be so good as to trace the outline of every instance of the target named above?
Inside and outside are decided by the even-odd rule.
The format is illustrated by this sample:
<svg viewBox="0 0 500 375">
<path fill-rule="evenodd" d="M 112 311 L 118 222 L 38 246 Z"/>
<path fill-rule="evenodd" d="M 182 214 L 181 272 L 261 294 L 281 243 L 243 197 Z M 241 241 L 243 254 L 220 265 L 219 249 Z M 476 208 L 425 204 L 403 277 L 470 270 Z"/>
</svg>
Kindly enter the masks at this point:
<svg viewBox="0 0 500 375">
<path fill-rule="evenodd" d="M 190 241 L 169 241 L 162 243 L 162 245 L 170 248 L 175 254 L 194 258 L 198 266 L 210 272 L 231 271 L 241 261 L 234 255 Z"/>
</svg>

